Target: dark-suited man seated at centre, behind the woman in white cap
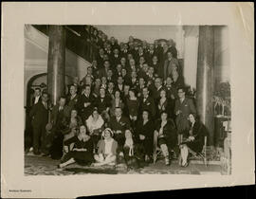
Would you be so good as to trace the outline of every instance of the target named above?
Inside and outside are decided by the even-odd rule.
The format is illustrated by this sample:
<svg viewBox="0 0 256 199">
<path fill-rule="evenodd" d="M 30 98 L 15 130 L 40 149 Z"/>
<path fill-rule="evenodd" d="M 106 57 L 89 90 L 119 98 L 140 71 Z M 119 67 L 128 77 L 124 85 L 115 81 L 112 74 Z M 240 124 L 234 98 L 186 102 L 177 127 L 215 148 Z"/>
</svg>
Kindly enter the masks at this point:
<svg viewBox="0 0 256 199">
<path fill-rule="evenodd" d="M 122 116 L 120 107 L 115 109 L 115 117 L 110 118 L 109 128 L 114 132 L 114 137 L 118 141 L 119 147 L 122 148 L 125 141 L 124 131 L 131 127 L 128 118 Z"/>
</svg>

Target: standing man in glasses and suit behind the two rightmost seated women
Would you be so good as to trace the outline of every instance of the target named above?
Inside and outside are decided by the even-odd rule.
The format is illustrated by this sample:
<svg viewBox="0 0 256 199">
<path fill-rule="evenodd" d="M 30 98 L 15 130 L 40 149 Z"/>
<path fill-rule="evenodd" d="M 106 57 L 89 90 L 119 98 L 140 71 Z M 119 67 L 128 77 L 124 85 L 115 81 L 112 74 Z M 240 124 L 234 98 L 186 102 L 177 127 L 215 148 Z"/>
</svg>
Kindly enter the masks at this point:
<svg viewBox="0 0 256 199">
<path fill-rule="evenodd" d="M 174 114 L 176 115 L 175 122 L 179 135 L 178 143 L 180 143 L 182 141 L 180 135 L 183 135 L 190 128 L 189 115 L 196 114 L 196 110 L 192 99 L 185 97 L 184 88 L 178 88 L 177 92 L 178 99 L 175 100 Z"/>
</svg>

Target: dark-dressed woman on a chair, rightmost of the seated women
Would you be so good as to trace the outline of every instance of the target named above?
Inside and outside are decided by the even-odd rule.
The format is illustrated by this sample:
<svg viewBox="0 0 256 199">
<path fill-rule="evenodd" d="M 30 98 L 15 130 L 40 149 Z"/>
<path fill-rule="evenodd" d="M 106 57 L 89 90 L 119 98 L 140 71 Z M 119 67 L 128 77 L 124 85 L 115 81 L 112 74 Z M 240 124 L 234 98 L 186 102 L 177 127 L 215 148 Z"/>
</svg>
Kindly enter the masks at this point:
<svg viewBox="0 0 256 199">
<path fill-rule="evenodd" d="M 179 165 L 182 167 L 187 167 L 189 165 L 189 153 L 196 155 L 197 153 L 202 152 L 204 146 L 204 137 L 207 135 L 206 127 L 196 119 L 194 114 L 189 115 L 189 120 L 191 123 L 190 130 L 186 135 L 184 135 L 184 141 L 179 145 Z"/>
</svg>

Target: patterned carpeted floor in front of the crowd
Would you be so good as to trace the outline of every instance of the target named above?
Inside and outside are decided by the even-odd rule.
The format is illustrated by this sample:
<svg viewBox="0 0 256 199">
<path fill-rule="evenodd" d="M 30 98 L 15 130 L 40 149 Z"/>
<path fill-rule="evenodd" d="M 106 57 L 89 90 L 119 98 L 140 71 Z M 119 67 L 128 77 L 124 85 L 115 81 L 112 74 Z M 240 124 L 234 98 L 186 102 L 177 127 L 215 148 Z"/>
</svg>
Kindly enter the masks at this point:
<svg viewBox="0 0 256 199">
<path fill-rule="evenodd" d="M 190 164 L 187 168 L 181 168 L 176 161 L 170 166 L 165 166 L 162 160 L 157 161 L 147 167 L 138 170 L 128 170 L 125 165 L 120 164 L 117 167 L 82 167 L 78 164 L 72 164 L 64 169 L 57 169 L 59 160 L 52 160 L 49 157 L 25 155 L 25 175 L 70 175 L 70 174 L 221 174 L 219 165 Z"/>
</svg>

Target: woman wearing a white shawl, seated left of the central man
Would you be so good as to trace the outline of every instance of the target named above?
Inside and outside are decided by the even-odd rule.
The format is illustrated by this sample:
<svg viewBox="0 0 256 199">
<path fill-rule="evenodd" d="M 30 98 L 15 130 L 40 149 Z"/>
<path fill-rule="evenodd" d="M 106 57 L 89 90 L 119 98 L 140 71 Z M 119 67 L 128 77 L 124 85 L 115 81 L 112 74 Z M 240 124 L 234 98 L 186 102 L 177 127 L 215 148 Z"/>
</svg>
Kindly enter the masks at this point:
<svg viewBox="0 0 256 199">
<path fill-rule="evenodd" d="M 94 108 L 92 115 L 85 121 L 89 135 L 91 136 L 94 144 L 94 149 L 101 139 L 101 132 L 104 125 L 104 120 L 98 112 L 98 108 Z"/>
</svg>

